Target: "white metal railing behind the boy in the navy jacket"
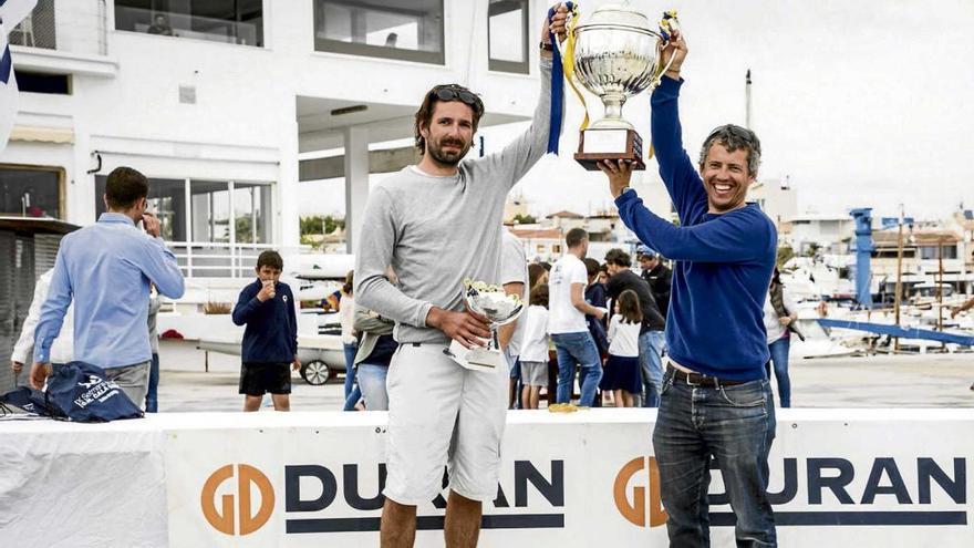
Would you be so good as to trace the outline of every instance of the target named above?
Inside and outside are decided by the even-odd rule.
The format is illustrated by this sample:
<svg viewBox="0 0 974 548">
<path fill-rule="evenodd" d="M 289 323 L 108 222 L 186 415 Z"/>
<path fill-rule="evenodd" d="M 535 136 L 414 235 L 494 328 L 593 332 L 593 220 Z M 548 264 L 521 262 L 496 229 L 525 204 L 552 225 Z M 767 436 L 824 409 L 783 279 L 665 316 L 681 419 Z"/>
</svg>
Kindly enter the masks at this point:
<svg viewBox="0 0 974 548">
<path fill-rule="evenodd" d="M 257 257 L 268 249 L 281 255 L 309 251 L 309 246 L 282 247 L 272 244 L 227 244 L 217 241 L 167 241 L 187 278 L 249 278 Z"/>
</svg>

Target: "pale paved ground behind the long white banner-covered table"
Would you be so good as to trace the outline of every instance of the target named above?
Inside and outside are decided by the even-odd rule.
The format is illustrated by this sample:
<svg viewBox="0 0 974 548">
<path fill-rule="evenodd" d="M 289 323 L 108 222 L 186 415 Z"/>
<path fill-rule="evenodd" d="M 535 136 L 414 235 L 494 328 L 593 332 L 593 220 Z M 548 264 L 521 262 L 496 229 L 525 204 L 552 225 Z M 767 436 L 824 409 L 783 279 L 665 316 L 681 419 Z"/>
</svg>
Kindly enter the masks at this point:
<svg viewBox="0 0 974 548">
<path fill-rule="evenodd" d="M 210 354 L 204 372 L 201 353 L 164 347 L 160 411 L 239 410 L 238 368 L 239 358 Z M 790 376 L 796 407 L 974 407 L 974 353 L 799 360 Z M 341 379 L 311 386 L 293 375 L 293 410 L 336 411 L 342 403 Z"/>
</svg>

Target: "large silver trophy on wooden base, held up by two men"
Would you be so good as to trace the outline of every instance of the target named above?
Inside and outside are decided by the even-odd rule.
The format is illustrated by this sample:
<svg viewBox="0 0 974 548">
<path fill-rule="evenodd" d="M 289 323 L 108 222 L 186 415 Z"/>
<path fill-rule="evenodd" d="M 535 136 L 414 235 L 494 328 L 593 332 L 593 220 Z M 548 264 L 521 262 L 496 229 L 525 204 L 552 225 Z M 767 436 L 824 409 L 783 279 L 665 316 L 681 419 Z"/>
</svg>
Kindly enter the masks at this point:
<svg viewBox="0 0 974 548">
<path fill-rule="evenodd" d="M 602 6 L 573 32 L 574 76 L 605 107 L 604 117 L 581 132 L 576 161 L 590 170 L 605 159 L 631 161 L 635 169 L 645 169 L 642 138 L 622 117 L 622 105 L 655 89 L 669 69 L 661 63 L 663 35 L 628 2 Z"/>
</svg>

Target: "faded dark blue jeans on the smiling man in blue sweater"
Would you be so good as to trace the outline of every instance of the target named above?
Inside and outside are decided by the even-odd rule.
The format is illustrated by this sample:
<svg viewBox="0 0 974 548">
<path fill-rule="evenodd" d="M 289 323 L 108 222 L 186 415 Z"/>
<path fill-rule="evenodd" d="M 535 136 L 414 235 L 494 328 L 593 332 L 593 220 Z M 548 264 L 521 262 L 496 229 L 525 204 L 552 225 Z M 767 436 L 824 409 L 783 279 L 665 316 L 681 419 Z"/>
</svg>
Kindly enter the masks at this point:
<svg viewBox="0 0 974 548">
<path fill-rule="evenodd" d="M 663 378 L 653 431 L 660 494 L 670 515 L 670 547 L 711 546 L 712 457 L 737 518 L 737 546 L 776 547 L 767 497 L 768 452 L 775 440 L 775 401 L 768 381 L 713 389 L 676 381 L 673 371 Z"/>
</svg>

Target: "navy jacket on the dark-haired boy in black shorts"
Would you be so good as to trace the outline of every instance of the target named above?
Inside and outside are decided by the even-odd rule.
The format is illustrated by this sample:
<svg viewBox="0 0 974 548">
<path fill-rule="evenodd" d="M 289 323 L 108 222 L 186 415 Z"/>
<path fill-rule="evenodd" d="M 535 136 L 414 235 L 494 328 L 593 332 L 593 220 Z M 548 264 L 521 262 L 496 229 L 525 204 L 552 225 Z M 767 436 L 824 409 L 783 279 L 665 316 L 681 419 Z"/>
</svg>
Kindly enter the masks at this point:
<svg viewBox="0 0 974 548">
<path fill-rule="evenodd" d="M 234 307 L 234 323 L 247 325 L 244 331 L 244 362 L 290 363 L 298 353 L 298 317 L 294 296 L 287 283 L 274 286 L 273 299 L 260 302 L 260 280 L 240 291 Z"/>
</svg>

